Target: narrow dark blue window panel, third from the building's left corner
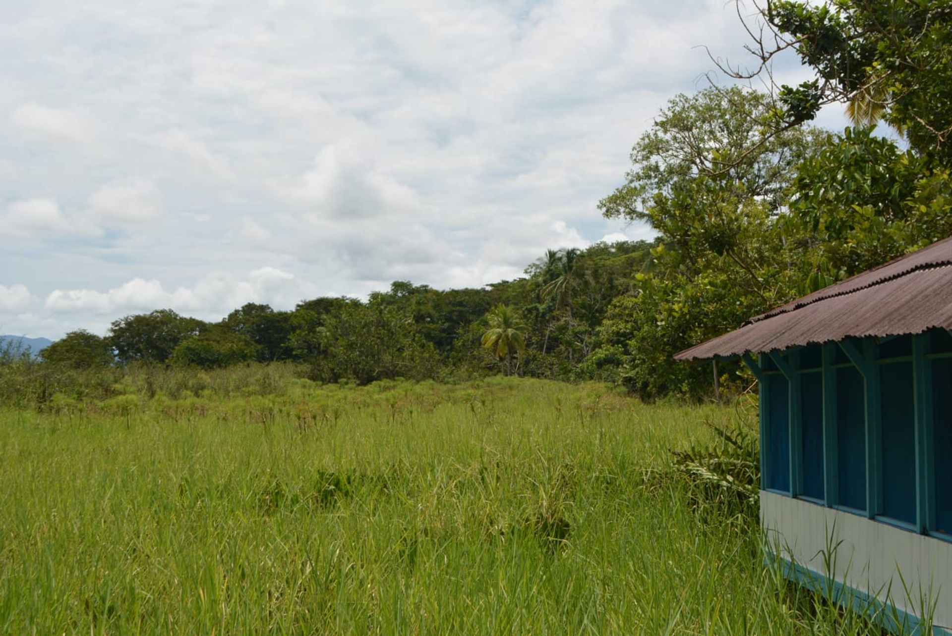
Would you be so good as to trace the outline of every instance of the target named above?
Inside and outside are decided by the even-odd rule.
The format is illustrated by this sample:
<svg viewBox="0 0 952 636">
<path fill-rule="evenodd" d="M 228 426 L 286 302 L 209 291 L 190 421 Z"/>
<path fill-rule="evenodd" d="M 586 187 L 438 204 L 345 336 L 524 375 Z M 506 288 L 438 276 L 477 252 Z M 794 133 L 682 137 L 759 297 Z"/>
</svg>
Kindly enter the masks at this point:
<svg viewBox="0 0 952 636">
<path fill-rule="evenodd" d="M 866 510 L 866 405 L 863 376 L 853 366 L 835 370 L 837 475 L 841 506 Z"/>
</svg>

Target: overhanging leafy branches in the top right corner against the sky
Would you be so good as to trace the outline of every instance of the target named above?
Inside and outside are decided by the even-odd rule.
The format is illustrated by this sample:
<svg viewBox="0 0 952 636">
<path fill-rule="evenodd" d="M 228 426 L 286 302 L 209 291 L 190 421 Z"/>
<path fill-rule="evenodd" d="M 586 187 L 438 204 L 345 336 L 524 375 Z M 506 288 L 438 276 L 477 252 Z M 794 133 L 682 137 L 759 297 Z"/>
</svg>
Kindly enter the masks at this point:
<svg viewBox="0 0 952 636">
<path fill-rule="evenodd" d="M 758 64 L 753 73 L 732 74 L 763 73 L 790 48 L 815 73 L 798 87 L 778 87 L 780 128 L 842 103 L 857 124 L 882 117 L 918 154 L 948 164 L 952 0 L 772 0 L 758 9 L 770 29 L 748 48 Z"/>
</svg>

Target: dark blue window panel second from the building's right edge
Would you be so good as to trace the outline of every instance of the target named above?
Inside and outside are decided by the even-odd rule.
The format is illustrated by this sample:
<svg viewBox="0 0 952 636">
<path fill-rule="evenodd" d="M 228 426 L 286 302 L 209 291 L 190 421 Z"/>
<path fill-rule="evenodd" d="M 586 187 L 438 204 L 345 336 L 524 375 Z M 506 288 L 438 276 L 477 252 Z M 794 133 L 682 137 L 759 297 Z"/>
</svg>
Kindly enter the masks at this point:
<svg viewBox="0 0 952 636">
<path fill-rule="evenodd" d="M 914 388 L 912 362 L 890 362 L 880 367 L 880 511 L 908 524 L 916 523 Z"/>
</svg>

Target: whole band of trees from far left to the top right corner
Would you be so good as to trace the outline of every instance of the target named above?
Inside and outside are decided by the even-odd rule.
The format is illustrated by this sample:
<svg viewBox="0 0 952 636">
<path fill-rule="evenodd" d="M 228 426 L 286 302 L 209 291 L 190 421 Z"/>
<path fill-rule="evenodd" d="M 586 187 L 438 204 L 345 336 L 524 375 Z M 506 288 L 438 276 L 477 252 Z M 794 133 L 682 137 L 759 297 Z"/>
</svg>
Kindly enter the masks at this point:
<svg viewBox="0 0 952 636">
<path fill-rule="evenodd" d="M 766 29 L 749 32 L 772 39 L 749 48 L 758 64 L 727 70 L 764 74 L 792 49 L 816 78 L 769 92 L 710 87 L 661 109 L 625 183 L 599 204 L 650 224 L 654 241 L 552 249 L 525 277 L 482 289 L 396 281 L 367 301 L 249 303 L 213 324 L 159 310 L 116 320 L 107 337 L 73 332 L 43 357 L 295 360 L 321 381 L 504 371 L 604 379 L 645 398 L 704 395 L 711 368 L 672 354 L 952 235 L 952 1 L 776 0 L 761 18 Z M 838 102 L 854 125 L 809 125 Z M 877 134 L 880 122 L 900 141 Z M 727 390 L 743 386 L 736 363 L 719 373 Z"/>
</svg>

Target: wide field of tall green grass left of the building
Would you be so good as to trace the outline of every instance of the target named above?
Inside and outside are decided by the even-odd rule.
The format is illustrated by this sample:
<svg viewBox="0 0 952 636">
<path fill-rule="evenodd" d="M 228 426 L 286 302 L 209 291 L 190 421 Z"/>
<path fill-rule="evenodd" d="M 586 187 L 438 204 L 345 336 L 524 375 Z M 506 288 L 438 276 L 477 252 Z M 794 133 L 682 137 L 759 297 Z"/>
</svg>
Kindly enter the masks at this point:
<svg viewBox="0 0 952 636">
<path fill-rule="evenodd" d="M 268 373 L 0 412 L 0 632 L 878 633 L 689 505 L 734 408 Z"/>
</svg>

